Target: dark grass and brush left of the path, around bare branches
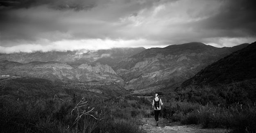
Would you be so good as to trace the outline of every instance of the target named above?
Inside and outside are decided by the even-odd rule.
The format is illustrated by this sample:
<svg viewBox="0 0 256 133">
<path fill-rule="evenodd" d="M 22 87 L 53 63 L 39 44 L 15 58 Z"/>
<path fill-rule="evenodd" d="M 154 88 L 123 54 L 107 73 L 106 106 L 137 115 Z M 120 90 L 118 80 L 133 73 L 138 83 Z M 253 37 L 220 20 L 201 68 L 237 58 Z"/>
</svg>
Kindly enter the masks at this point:
<svg viewBox="0 0 256 133">
<path fill-rule="evenodd" d="M 83 101 L 88 102 L 78 104 L 81 99 L 54 97 L 32 101 L 0 97 L 0 132 L 144 133 L 138 126 L 139 119 L 148 115 L 143 106 L 145 99 L 136 98 L 135 101 L 127 100 L 134 99 L 131 97 L 117 97 L 96 101 L 93 97 L 85 97 Z"/>
</svg>

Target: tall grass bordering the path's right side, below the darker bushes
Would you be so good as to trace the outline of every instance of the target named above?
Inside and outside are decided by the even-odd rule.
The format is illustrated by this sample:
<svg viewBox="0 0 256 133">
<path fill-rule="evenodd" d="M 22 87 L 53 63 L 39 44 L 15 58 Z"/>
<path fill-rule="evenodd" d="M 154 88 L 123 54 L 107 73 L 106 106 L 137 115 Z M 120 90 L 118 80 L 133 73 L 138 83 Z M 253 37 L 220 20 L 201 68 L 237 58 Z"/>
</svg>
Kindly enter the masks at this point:
<svg viewBox="0 0 256 133">
<path fill-rule="evenodd" d="M 163 116 L 182 124 L 202 124 L 204 128 L 231 128 L 233 133 L 256 132 L 256 104 L 236 103 L 228 107 L 172 101 L 163 108 Z"/>
</svg>

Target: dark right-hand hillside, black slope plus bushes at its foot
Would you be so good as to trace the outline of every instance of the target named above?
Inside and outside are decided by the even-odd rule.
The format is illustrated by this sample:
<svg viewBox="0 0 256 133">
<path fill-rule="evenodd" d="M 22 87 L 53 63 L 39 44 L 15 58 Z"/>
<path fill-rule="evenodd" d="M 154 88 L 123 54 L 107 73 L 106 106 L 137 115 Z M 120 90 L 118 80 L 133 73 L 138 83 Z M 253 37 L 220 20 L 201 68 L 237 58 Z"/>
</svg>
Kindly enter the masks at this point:
<svg viewBox="0 0 256 133">
<path fill-rule="evenodd" d="M 182 83 L 179 97 L 225 106 L 256 101 L 256 42 L 208 65 Z"/>
</svg>

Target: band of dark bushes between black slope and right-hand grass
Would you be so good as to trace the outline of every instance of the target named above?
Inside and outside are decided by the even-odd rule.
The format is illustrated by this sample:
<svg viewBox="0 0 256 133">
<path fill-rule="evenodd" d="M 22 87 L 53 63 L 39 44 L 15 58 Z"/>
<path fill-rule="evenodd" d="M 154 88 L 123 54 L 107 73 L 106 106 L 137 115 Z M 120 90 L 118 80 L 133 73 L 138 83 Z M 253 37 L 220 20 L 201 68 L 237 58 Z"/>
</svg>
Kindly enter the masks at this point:
<svg viewBox="0 0 256 133">
<path fill-rule="evenodd" d="M 206 105 L 229 106 L 240 102 L 253 104 L 256 101 L 256 79 L 230 83 L 218 87 L 190 85 L 176 92 L 176 100 L 190 101 Z"/>
</svg>

